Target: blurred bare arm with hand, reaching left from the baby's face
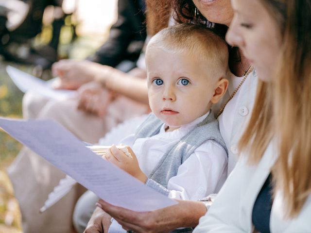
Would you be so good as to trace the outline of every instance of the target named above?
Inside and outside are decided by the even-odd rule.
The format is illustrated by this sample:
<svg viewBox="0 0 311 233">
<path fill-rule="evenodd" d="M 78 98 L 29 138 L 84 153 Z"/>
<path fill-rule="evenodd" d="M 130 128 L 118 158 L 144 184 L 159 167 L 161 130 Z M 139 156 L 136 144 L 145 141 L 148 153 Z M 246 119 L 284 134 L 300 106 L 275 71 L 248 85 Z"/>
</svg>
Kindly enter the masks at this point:
<svg viewBox="0 0 311 233">
<path fill-rule="evenodd" d="M 84 83 L 97 81 L 117 94 L 148 104 L 147 81 L 141 78 L 147 77 L 143 69 L 124 73 L 90 61 L 61 60 L 53 64 L 53 71 L 61 77 L 60 83 L 54 83 L 55 88 L 77 89 Z"/>
</svg>

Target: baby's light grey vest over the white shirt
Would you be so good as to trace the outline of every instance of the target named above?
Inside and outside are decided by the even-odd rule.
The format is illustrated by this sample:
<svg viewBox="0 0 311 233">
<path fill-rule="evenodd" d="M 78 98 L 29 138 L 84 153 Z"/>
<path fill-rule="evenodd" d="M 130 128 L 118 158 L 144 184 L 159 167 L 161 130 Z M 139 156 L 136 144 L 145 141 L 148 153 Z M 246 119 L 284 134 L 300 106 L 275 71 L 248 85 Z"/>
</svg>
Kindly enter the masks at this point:
<svg viewBox="0 0 311 233">
<path fill-rule="evenodd" d="M 162 125 L 163 122 L 161 120 L 154 114 L 150 114 L 138 127 L 135 139 L 151 137 L 159 133 Z M 167 184 L 173 176 L 177 175 L 178 167 L 189 158 L 195 149 L 207 140 L 214 140 L 228 153 L 224 139 L 219 131 L 218 121 L 215 119 L 212 111 L 201 123 L 197 124 L 179 142 L 173 145 L 170 150 L 166 151 L 151 172 L 146 185 L 167 196 L 170 192 L 167 189 Z M 192 229 L 184 228 L 173 231 L 173 233 L 181 232 L 190 233 Z"/>
</svg>

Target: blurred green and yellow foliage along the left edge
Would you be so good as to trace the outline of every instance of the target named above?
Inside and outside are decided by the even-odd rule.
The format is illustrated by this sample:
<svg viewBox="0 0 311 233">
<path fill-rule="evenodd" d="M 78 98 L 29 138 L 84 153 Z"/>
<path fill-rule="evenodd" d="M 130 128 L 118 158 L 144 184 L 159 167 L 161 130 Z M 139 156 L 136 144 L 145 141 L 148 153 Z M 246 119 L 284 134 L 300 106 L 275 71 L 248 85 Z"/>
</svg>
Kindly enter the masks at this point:
<svg viewBox="0 0 311 233">
<path fill-rule="evenodd" d="M 12 83 L 0 62 L 0 116 L 21 117 L 22 93 Z M 12 64 L 10 64 L 12 65 Z M 19 67 L 25 70 L 25 67 Z M 14 198 L 12 185 L 5 172 L 15 158 L 21 145 L 0 130 L 0 233 L 20 233 L 20 212 Z"/>
</svg>

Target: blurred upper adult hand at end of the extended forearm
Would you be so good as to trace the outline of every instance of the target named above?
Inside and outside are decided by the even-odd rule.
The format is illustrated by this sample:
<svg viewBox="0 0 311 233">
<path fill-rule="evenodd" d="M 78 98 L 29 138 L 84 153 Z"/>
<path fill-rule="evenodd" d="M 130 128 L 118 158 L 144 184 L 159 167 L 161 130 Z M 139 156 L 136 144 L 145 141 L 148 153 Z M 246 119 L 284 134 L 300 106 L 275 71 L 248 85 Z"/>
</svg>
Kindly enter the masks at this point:
<svg viewBox="0 0 311 233">
<path fill-rule="evenodd" d="M 99 74 L 105 73 L 107 69 L 105 67 L 107 66 L 87 60 L 65 59 L 56 62 L 52 66 L 52 72 L 59 77 L 59 80 L 54 83 L 54 88 L 76 90 L 82 84 L 93 81 Z"/>
</svg>

